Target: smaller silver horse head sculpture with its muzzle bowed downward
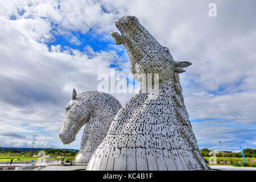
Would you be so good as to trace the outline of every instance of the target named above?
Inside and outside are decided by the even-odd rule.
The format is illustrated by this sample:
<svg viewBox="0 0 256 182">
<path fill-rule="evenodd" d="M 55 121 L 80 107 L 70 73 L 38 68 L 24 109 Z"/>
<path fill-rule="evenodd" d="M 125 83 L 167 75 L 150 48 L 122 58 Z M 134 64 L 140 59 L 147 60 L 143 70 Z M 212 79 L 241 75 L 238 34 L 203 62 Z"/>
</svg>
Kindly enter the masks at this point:
<svg viewBox="0 0 256 182">
<path fill-rule="evenodd" d="M 85 92 L 76 95 L 76 90 L 73 89 L 72 100 L 66 107 L 59 136 L 64 144 L 69 144 L 76 139 L 76 134 L 86 124 L 76 162 L 89 162 L 94 150 L 106 137 L 120 108 L 121 104 L 110 94 Z"/>
</svg>

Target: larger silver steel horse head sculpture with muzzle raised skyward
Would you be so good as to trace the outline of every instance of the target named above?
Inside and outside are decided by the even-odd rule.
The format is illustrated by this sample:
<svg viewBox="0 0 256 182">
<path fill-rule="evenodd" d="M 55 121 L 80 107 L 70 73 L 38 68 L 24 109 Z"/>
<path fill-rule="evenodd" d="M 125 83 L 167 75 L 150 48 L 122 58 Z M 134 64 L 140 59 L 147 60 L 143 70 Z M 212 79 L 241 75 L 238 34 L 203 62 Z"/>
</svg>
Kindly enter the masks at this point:
<svg viewBox="0 0 256 182">
<path fill-rule="evenodd" d="M 148 73 L 157 75 L 158 86 L 146 93 L 140 90 L 123 105 L 86 170 L 208 169 L 179 83 L 179 73 L 191 63 L 174 61 L 169 49 L 161 46 L 135 16 L 123 16 L 115 20 L 115 26 L 121 35 L 111 35 L 116 44 L 125 47 L 141 89 Z"/>
</svg>

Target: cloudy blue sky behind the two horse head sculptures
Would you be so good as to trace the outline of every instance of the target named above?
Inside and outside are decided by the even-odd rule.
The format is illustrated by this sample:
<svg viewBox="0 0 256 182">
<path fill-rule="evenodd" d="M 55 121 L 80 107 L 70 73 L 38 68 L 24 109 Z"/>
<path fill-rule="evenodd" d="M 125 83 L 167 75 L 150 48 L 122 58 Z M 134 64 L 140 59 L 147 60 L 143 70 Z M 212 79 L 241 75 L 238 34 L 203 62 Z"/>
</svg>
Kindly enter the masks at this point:
<svg viewBox="0 0 256 182">
<path fill-rule="evenodd" d="M 209 17 L 209 3 L 217 17 Z M 71 99 L 97 90 L 97 76 L 130 73 L 114 20 L 135 15 L 177 61 L 183 96 L 200 148 L 256 148 L 256 23 L 254 1 L 0 2 L 0 139 L 3 146 L 64 145 L 58 133 Z M 154 13 L 151 13 L 154 12 Z M 136 84 L 138 85 L 138 83 Z M 133 94 L 113 94 L 125 104 Z"/>
</svg>

